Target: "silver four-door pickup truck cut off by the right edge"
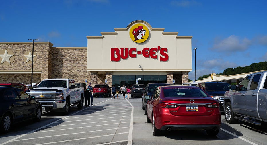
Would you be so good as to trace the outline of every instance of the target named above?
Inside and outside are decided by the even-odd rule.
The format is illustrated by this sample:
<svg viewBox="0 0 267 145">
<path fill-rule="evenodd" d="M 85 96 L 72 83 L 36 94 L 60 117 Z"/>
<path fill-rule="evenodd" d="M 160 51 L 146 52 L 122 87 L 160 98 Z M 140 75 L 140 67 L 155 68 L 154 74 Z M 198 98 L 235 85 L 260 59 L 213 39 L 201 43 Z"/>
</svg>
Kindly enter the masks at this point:
<svg viewBox="0 0 267 145">
<path fill-rule="evenodd" d="M 267 126 L 267 71 L 247 75 L 224 94 L 225 119 Z"/>
</svg>

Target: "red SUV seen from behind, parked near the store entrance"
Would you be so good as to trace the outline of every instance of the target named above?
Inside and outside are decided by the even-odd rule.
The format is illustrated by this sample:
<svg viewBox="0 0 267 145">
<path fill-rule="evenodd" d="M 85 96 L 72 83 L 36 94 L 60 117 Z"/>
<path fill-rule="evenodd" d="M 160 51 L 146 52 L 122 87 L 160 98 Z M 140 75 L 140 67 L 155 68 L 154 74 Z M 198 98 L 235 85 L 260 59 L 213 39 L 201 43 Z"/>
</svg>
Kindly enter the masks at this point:
<svg viewBox="0 0 267 145">
<path fill-rule="evenodd" d="M 111 96 L 111 89 L 108 84 L 96 84 L 93 88 L 93 97 L 96 96 L 104 96 L 110 97 Z"/>
</svg>

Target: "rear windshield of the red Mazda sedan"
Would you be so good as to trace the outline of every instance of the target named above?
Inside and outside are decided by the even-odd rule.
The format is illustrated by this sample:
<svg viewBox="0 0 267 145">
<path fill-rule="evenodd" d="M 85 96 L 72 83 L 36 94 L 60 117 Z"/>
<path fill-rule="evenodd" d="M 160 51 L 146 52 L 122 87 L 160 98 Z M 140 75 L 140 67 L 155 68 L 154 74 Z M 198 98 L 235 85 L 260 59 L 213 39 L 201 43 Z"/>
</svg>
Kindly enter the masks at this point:
<svg viewBox="0 0 267 145">
<path fill-rule="evenodd" d="M 175 88 L 164 89 L 165 97 L 207 97 L 202 89 Z"/>
</svg>

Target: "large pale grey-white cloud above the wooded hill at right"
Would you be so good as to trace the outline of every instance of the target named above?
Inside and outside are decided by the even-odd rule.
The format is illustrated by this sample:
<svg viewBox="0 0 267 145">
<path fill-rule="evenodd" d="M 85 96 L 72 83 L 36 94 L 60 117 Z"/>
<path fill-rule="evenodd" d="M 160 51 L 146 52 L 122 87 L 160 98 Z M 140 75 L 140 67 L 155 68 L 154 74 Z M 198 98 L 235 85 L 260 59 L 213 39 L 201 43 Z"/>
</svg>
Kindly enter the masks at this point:
<svg viewBox="0 0 267 145">
<path fill-rule="evenodd" d="M 251 40 L 247 38 L 240 40 L 237 36 L 231 35 L 223 40 L 215 40 L 213 47 L 210 49 L 216 52 L 236 52 L 247 50 L 250 45 Z"/>
</svg>

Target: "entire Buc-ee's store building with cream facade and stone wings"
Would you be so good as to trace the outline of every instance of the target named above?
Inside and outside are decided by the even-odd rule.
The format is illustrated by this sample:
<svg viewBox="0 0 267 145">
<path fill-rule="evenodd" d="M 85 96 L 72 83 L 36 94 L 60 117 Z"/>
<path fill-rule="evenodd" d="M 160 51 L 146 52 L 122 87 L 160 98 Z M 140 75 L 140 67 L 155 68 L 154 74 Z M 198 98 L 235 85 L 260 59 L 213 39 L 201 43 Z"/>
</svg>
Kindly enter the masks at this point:
<svg viewBox="0 0 267 145">
<path fill-rule="evenodd" d="M 110 87 L 188 82 L 192 36 L 164 32 L 142 20 L 114 30 L 87 36 L 87 47 L 53 47 L 51 42 L 35 41 L 33 82 L 71 78 Z M 30 84 L 31 58 L 32 42 L 0 42 L 0 83 Z"/>
</svg>

